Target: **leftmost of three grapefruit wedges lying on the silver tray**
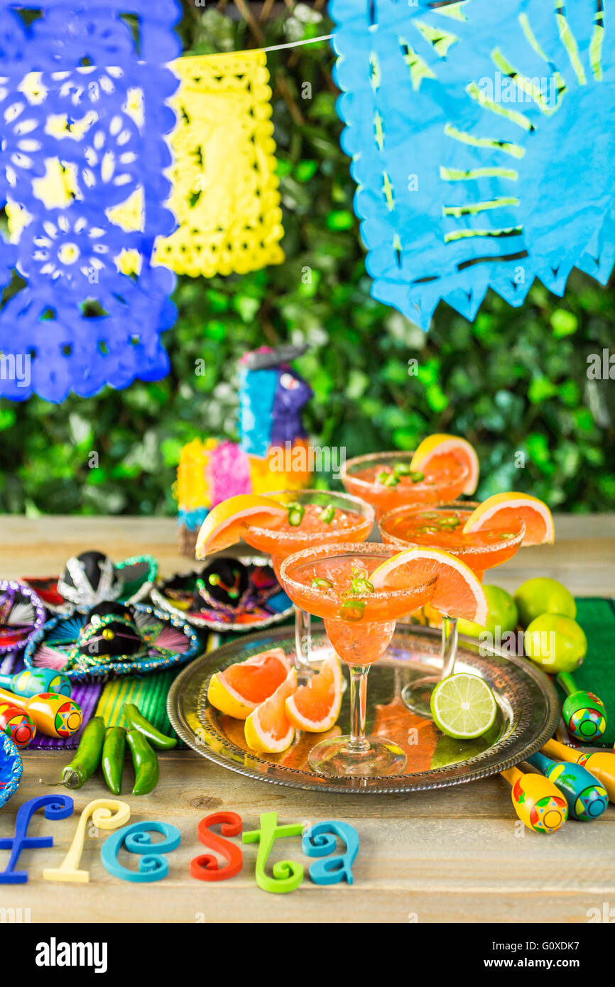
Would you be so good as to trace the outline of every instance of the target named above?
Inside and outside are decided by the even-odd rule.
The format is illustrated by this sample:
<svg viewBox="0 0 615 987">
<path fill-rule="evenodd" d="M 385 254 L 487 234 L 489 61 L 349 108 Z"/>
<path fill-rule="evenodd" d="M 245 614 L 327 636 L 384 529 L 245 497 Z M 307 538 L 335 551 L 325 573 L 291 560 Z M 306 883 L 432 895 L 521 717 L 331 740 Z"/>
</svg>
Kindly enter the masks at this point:
<svg viewBox="0 0 615 987">
<path fill-rule="evenodd" d="M 281 647 L 262 651 L 246 661 L 236 661 L 209 679 L 207 700 L 228 717 L 246 720 L 269 699 L 290 670 Z"/>
</svg>

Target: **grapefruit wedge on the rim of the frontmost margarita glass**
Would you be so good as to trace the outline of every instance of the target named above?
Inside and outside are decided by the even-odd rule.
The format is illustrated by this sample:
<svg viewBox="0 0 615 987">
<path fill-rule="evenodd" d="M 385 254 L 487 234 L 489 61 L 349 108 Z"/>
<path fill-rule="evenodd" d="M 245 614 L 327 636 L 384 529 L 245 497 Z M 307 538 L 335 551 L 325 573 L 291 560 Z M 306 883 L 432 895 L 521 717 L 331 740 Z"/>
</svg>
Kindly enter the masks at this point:
<svg viewBox="0 0 615 987">
<path fill-rule="evenodd" d="M 441 549 L 407 549 L 374 569 L 374 589 L 403 589 L 435 578 L 429 604 L 447 617 L 463 617 L 485 627 L 489 603 L 480 580 L 465 562 Z M 470 616 L 472 614 L 472 616 Z"/>
</svg>

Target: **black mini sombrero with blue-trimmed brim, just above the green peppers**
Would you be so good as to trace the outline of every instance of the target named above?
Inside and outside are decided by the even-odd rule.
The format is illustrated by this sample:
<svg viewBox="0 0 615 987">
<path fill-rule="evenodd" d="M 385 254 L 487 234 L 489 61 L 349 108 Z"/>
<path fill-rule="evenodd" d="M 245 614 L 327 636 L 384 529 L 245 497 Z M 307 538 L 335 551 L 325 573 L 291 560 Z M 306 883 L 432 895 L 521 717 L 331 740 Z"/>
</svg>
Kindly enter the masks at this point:
<svg viewBox="0 0 615 987">
<path fill-rule="evenodd" d="M 105 601 L 53 617 L 24 655 L 28 668 L 53 668 L 72 682 L 159 671 L 189 661 L 198 636 L 185 620 L 143 603 Z"/>
</svg>

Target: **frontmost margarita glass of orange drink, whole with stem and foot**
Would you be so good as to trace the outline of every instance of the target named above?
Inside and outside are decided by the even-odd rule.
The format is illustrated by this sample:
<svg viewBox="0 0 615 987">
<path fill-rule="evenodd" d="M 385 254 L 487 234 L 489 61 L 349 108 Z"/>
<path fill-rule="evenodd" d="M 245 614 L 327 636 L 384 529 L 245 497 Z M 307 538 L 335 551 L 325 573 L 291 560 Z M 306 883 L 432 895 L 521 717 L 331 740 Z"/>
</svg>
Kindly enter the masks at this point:
<svg viewBox="0 0 615 987">
<path fill-rule="evenodd" d="M 382 737 L 365 736 L 367 673 L 386 651 L 398 617 L 423 606 L 435 586 L 417 569 L 400 589 L 374 589 L 369 576 L 394 556 L 386 545 L 339 544 L 304 549 L 280 569 L 281 583 L 293 602 L 322 617 L 331 645 L 350 672 L 350 734 L 330 737 L 312 748 L 310 767 L 328 777 L 367 778 L 398 775 L 406 755 Z"/>
</svg>

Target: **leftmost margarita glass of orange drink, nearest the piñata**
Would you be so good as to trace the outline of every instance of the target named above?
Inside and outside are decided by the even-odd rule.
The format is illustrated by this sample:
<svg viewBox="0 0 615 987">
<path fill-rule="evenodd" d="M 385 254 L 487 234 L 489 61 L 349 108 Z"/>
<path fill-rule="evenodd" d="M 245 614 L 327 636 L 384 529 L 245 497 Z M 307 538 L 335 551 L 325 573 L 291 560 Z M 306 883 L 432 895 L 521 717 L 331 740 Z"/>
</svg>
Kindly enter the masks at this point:
<svg viewBox="0 0 615 987">
<path fill-rule="evenodd" d="M 304 490 L 267 495 L 286 507 L 285 516 L 271 518 L 267 526 L 247 521 L 241 537 L 258 552 L 270 555 L 278 579 L 282 562 L 293 552 L 334 542 L 364 542 L 373 527 L 373 508 L 347 493 Z M 295 607 L 295 649 L 299 671 L 309 672 L 310 614 L 299 607 Z"/>
</svg>

